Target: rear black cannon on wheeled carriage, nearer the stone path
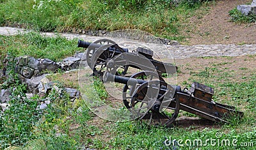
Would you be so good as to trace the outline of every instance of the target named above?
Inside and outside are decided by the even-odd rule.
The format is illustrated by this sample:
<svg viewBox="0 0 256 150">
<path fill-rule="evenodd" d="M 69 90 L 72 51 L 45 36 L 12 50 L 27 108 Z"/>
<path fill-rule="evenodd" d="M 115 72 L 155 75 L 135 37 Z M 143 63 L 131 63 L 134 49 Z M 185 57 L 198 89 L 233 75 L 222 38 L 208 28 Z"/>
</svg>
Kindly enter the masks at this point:
<svg viewBox="0 0 256 150">
<path fill-rule="evenodd" d="M 129 59 L 137 60 L 138 62 L 135 64 L 119 66 L 117 72 L 118 75 L 125 75 L 129 66 L 138 68 L 137 64 L 144 58 L 150 60 L 150 63 L 154 64 L 154 69 L 157 70 L 159 75 L 161 75 L 161 73 L 169 73 L 170 70 L 176 70 L 176 66 L 173 64 L 163 63 L 153 59 L 153 51 L 143 47 L 138 47 L 136 51 L 133 50 L 132 52 L 129 52 L 128 49 L 123 49 L 114 41 L 108 39 L 97 40 L 93 43 L 79 40 L 77 47 L 86 48 L 86 61 L 88 66 L 93 70 L 93 75 L 96 75 L 97 77 L 102 77 L 103 72 L 106 70 L 106 62 L 119 54 L 129 56 Z M 166 68 L 168 68 L 168 70 L 166 70 Z"/>
</svg>

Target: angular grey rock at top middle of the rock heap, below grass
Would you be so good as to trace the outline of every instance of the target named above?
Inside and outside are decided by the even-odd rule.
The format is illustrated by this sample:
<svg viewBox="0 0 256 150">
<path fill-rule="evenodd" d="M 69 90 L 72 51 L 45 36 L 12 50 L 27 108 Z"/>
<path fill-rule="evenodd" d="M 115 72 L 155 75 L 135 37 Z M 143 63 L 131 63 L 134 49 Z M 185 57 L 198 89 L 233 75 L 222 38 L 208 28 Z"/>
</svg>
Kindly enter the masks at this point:
<svg viewBox="0 0 256 150">
<path fill-rule="evenodd" d="M 38 68 L 39 70 L 56 71 L 58 68 L 60 68 L 60 66 L 54 61 L 45 58 L 45 59 L 40 59 Z"/>
</svg>

